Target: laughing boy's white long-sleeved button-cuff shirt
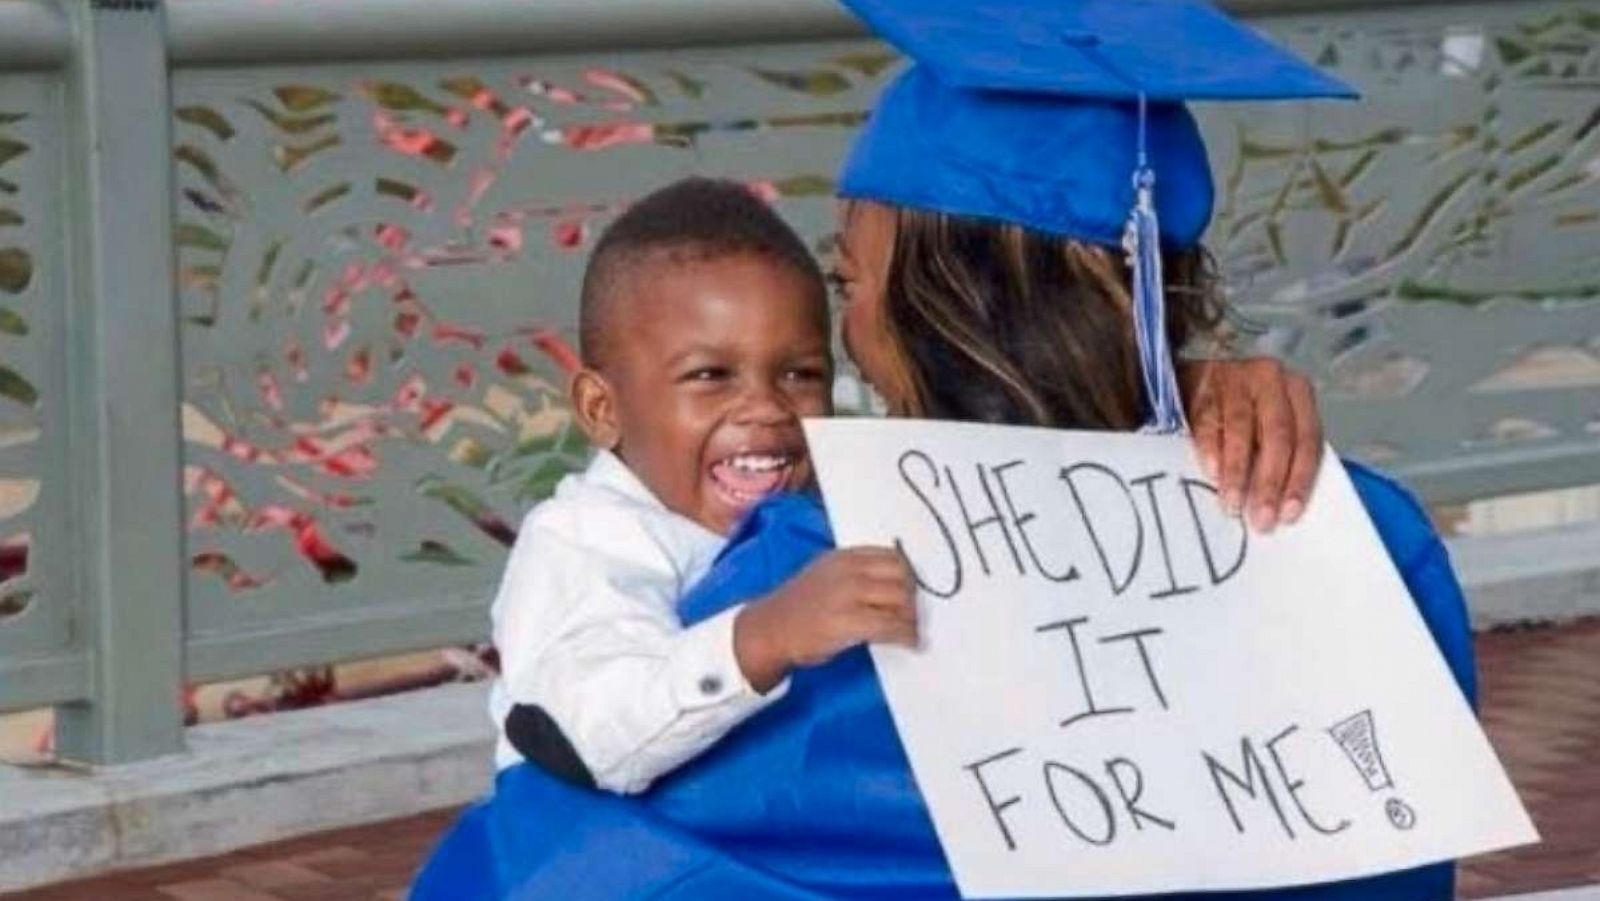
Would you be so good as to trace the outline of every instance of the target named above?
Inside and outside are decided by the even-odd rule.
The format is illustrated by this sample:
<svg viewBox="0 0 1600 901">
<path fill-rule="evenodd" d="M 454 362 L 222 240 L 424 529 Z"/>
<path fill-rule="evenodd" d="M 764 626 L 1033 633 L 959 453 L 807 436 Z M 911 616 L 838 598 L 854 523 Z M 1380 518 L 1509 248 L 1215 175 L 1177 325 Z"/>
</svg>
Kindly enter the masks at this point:
<svg viewBox="0 0 1600 901">
<path fill-rule="evenodd" d="M 678 599 L 723 544 L 611 453 L 563 479 L 523 519 L 490 611 L 496 768 L 522 762 L 506 715 L 538 704 L 600 787 L 642 792 L 782 696 L 787 682 L 758 695 L 739 671 L 741 607 L 688 629 L 678 621 Z"/>
</svg>

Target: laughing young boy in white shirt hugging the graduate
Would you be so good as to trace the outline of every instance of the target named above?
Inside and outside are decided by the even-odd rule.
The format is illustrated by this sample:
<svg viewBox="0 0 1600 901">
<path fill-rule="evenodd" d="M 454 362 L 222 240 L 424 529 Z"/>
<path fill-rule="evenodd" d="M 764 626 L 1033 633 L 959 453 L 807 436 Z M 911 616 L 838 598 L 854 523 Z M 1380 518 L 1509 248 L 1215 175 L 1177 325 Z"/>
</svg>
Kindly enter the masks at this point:
<svg viewBox="0 0 1600 901">
<path fill-rule="evenodd" d="M 915 642 L 886 549 L 827 554 L 685 629 L 678 597 L 762 498 L 811 485 L 802 416 L 827 416 L 827 294 L 805 243 L 744 186 L 686 179 L 602 235 L 571 384 L 597 448 L 523 520 L 493 607 L 498 768 L 525 757 L 640 792 L 861 642 Z"/>
</svg>

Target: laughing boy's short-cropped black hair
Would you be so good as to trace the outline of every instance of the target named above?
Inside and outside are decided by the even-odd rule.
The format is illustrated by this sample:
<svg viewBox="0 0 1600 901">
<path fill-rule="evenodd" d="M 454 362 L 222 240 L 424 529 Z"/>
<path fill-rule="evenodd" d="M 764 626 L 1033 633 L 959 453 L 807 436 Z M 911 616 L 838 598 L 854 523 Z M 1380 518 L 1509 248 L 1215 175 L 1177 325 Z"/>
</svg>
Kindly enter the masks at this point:
<svg viewBox="0 0 1600 901">
<path fill-rule="evenodd" d="M 616 218 L 589 256 L 578 312 L 578 347 L 600 365 L 608 320 L 640 266 L 757 254 L 787 266 L 826 302 L 822 270 L 800 235 L 749 186 L 685 178 L 645 195 Z M 654 259 L 653 259 L 654 258 Z"/>
</svg>

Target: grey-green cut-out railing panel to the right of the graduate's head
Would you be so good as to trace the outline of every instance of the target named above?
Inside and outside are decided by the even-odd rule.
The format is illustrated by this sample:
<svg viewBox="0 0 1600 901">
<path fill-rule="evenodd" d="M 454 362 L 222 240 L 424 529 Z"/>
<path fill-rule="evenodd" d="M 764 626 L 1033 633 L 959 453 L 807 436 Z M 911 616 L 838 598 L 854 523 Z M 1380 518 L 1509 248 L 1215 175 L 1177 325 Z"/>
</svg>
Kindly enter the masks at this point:
<svg viewBox="0 0 1600 901">
<path fill-rule="evenodd" d="M 1205 110 L 1211 246 L 1246 328 L 1386 466 L 1594 451 L 1600 5 L 1266 24 L 1365 98 Z"/>
</svg>

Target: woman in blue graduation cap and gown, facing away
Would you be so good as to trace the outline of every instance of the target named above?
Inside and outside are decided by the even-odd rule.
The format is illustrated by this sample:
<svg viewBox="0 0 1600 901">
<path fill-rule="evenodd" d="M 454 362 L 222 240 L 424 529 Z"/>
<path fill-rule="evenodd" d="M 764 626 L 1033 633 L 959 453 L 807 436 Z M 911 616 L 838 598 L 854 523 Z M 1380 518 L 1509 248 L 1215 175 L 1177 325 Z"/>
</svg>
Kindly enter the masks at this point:
<svg viewBox="0 0 1600 901">
<path fill-rule="evenodd" d="M 1347 90 L 1198 3 L 850 5 L 914 59 L 840 178 L 846 347 L 891 414 L 1181 430 L 1173 349 L 1216 320 L 1200 245 L 1211 174 L 1182 101 Z M 1470 696 L 1466 613 L 1443 546 L 1403 490 L 1360 467 L 1350 475 Z M 715 616 L 829 547 L 813 498 L 768 501 L 680 615 Z M 1451 893 L 1451 866 L 1437 864 L 1238 896 Z M 781 701 L 645 795 L 573 787 L 533 765 L 502 771 L 414 896 L 958 895 L 856 648 L 795 672 Z"/>
</svg>

